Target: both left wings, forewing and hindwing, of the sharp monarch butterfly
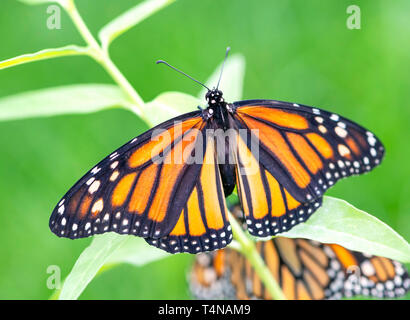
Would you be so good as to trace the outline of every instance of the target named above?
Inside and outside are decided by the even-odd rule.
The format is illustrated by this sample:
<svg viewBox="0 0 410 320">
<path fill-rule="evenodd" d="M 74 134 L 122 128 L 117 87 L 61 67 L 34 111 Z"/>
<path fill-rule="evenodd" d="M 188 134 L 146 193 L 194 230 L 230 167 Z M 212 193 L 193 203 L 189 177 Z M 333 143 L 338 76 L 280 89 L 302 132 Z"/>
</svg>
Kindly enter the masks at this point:
<svg viewBox="0 0 410 320">
<path fill-rule="evenodd" d="M 208 228 L 205 232 L 217 238 L 217 245 L 211 242 L 209 250 L 222 247 L 222 241 L 227 242 L 230 236 L 225 204 L 214 202 L 213 210 L 207 207 L 204 214 L 195 210 L 196 207 L 203 209 L 204 202 L 199 201 L 221 197 L 218 190 L 214 190 L 219 176 L 215 172 L 210 176 L 211 166 L 194 161 L 195 156 L 203 157 L 213 145 L 207 144 L 206 127 L 200 112 L 192 112 L 131 140 L 97 164 L 67 192 L 51 215 L 51 230 L 71 239 L 114 231 L 148 238 L 148 242 L 178 233 L 178 239 L 184 241 L 191 240 L 191 236 L 200 239 L 203 234 L 197 226 L 198 221 L 202 221 Z M 195 200 L 197 194 L 202 198 Z M 186 208 L 187 203 L 190 208 Z M 185 228 L 184 233 L 181 213 L 187 219 L 183 222 L 190 227 Z M 197 246 L 192 248 L 193 241 L 188 249 L 179 245 L 164 249 L 173 253 L 194 252 Z"/>
</svg>

